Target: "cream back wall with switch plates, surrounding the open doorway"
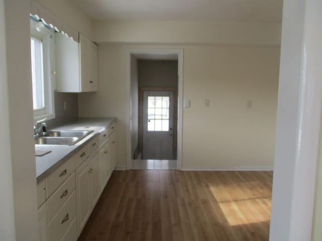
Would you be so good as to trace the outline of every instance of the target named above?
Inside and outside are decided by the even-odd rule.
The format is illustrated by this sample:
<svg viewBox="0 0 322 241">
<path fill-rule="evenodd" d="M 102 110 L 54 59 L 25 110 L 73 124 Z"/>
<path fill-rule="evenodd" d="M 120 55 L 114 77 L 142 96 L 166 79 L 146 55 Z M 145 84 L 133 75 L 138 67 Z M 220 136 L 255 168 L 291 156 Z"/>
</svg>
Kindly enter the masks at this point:
<svg viewBox="0 0 322 241">
<path fill-rule="evenodd" d="M 279 47 L 105 44 L 99 91 L 79 96 L 79 114 L 119 118 L 119 166 L 126 163 L 128 48 L 184 49 L 184 98 L 191 100 L 183 113 L 184 169 L 273 166 Z"/>
</svg>

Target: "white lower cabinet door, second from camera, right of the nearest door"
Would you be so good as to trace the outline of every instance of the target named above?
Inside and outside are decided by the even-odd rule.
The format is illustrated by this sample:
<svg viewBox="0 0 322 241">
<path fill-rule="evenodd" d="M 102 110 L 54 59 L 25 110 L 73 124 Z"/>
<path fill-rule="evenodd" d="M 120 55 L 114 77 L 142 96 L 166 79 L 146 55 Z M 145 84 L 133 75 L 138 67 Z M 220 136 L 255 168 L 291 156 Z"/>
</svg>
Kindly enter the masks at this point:
<svg viewBox="0 0 322 241">
<path fill-rule="evenodd" d="M 89 157 L 89 174 L 90 174 L 90 197 L 91 207 L 94 208 L 101 194 L 100 173 L 99 173 L 99 151 L 96 150 Z"/>
</svg>

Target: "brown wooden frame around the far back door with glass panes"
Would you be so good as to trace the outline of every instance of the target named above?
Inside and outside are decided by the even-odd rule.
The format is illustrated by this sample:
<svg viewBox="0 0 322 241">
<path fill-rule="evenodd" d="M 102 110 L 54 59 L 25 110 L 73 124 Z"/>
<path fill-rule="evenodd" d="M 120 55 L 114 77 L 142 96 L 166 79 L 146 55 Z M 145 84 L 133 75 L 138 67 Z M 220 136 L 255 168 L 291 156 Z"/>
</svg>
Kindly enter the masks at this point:
<svg viewBox="0 0 322 241">
<path fill-rule="evenodd" d="M 178 135 L 178 88 L 177 87 L 139 87 L 139 141 L 138 151 L 143 154 L 143 92 L 144 91 L 173 91 L 173 150 L 177 149 Z M 178 150 L 177 150 L 178 151 Z M 178 155 L 178 154 L 177 154 Z"/>
</svg>

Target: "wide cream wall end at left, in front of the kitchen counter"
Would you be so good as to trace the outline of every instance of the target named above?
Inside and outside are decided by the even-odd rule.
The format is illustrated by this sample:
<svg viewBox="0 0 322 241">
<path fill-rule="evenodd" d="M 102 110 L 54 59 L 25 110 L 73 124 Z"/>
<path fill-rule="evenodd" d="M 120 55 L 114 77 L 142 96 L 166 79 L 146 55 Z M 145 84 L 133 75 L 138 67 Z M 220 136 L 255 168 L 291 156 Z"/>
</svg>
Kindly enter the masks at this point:
<svg viewBox="0 0 322 241">
<path fill-rule="evenodd" d="M 38 240 L 29 10 L 28 0 L 5 1 L 10 145 L 17 240 Z"/>
</svg>

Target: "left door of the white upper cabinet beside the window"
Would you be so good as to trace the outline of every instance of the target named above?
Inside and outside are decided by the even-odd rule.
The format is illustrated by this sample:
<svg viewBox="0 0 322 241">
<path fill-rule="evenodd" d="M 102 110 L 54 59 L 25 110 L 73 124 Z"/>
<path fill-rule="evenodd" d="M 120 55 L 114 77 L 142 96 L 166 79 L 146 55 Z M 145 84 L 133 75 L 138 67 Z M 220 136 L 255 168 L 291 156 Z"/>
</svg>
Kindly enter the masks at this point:
<svg viewBox="0 0 322 241">
<path fill-rule="evenodd" d="M 81 92 L 89 91 L 90 83 L 90 40 L 79 34 L 79 68 L 81 69 Z"/>
</svg>

